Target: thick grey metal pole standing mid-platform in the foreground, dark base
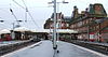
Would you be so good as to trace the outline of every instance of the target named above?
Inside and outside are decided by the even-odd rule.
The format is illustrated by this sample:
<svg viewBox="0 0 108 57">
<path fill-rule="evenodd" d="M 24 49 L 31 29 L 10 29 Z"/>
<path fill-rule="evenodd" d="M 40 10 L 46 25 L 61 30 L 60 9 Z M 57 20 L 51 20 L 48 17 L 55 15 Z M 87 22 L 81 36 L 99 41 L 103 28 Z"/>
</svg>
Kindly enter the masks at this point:
<svg viewBox="0 0 108 57">
<path fill-rule="evenodd" d="M 54 0 L 54 44 L 53 44 L 53 48 L 56 49 L 57 45 L 56 45 L 56 0 Z"/>
</svg>

